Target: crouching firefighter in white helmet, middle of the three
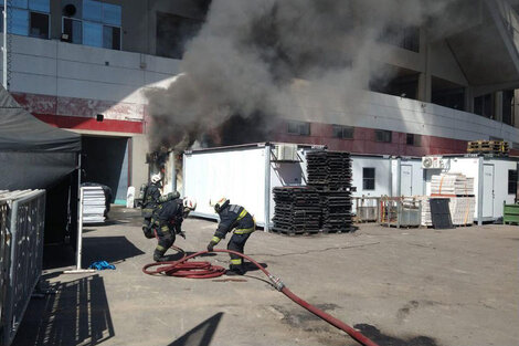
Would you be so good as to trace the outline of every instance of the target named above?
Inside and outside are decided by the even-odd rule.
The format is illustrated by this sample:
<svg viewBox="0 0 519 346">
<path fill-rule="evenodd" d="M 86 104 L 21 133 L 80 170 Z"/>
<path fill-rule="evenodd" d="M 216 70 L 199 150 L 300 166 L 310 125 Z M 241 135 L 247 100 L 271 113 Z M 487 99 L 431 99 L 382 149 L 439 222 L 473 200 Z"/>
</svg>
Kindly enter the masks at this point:
<svg viewBox="0 0 519 346">
<path fill-rule="evenodd" d="M 174 243 L 177 234 L 186 239 L 182 221 L 194 209 L 197 209 L 197 202 L 190 198 L 176 198 L 158 203 L 151 218 L 152 229 L 158 239 L 153 261 L 166 261 L 163 254 Z"/>
</svg>

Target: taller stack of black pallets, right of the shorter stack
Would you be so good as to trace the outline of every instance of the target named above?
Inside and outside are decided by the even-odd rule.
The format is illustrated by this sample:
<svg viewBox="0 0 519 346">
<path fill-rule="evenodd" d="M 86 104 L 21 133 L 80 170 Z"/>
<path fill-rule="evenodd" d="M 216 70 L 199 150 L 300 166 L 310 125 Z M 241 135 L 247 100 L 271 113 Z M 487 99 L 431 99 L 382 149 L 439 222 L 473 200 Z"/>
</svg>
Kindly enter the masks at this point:
<svg viewBox="0 0 519 346">
<path fill-rule="evenodd" d="M 349 153 L 311 151 L 307 154 L 308 186 L 318 189 L 324 232 L 349 232 L 351 218 L 351 157 Z"/>
</svg>

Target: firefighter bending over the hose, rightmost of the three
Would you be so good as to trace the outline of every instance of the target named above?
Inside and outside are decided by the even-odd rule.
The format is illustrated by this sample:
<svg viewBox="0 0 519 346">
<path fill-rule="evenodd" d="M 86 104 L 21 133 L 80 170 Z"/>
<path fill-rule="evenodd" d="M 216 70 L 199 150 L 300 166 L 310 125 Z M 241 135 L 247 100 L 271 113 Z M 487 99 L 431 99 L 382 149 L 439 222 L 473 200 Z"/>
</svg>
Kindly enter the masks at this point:
<svg viewBox="0 0 519 346">
<path fill-rule="evenodd" d="M 221 198 L 214 203 L 214 211 L 220 216 L 220 223 L 214 237 L 208 245 L 208 251 L 213 251 L 220 240 L 234 229 L 234 233 L 229 240 L 227 250 L 243 253 L 245 242 L 252 232 L 256 230 L 256 222 L 245 208 L 231 205 L 229 199 Z M 237 254 L 230 253 L 231 264 L 229 265 L 227 275 L 243 275 L 245 273 L 243 259 Z"/>
</svg>

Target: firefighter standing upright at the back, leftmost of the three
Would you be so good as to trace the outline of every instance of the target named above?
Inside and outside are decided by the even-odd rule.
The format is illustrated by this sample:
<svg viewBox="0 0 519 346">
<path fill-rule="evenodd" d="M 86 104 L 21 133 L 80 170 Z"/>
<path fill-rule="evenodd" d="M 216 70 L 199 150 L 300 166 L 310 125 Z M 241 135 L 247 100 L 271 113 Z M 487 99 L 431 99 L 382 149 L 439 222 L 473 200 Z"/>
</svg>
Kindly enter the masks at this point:
<svg viewBox="0 0 519 346">
<path fill-rule="evenodd" d="M 157 208 L 159 202 L 165 202 L 168 200 L 172 200 L 179 198 L 179 192 L 170 192 L 166 196 L 161 196 L 160 188 L 161 188 L 162 177 L 160 174 L 152 175 L 149 184 L 144 184 L 140 187 L 139 199 L 141 216 L 142 220 L 142 232 L 145 237 L 148 239 L 153 238 L 153 231 L 151 229 L 151 216 L 153 213 L 155 208 Z"/>
</svg>

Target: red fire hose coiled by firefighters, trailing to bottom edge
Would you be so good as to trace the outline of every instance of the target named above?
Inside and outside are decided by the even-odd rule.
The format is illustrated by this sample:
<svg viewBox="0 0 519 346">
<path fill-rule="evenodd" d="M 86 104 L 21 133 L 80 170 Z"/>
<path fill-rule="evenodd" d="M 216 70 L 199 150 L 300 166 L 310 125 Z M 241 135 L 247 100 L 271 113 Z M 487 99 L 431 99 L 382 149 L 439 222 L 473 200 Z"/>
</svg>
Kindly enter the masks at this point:
<svg viewBox="0 0 519 346">
<path fill-rule="evenodd" d="M 183 250 L 177 247 L 172 247 L 172 249 L 183 252 Z M 265 273 L 268 280 L 271 280 L 272 285 L 277 291 L 285 294 L 293 302 L 299 304 L 300 306 L 308 310 L 310 313 L 313 313 L 317 317 L 328 322 L 336 328 L 339 328 L 342 332 L 346 332 L 349 336 L 351 336 L 359 344 L 364 345 L 364 346 L 379 346 L 378 344 L 373 343 L 368 337 L 366 337 L 359 331 L 350 327 L 342 321 L 325 313 L 324 311 L 317 308 L 316 306 L 298 297 L 290 290 L 288 290 L 288 287 L 283 283 L 283 281 L 279 277 L 272 275 L 265 268 L 263 268 L 263 265 L 261 265 L 260 263 L 257 263 L 256 261 L 254 261 L 246 254 L 232 251 L 232 250 L 220 250 L 220 249 L 214 249 L 212 252 L 233 253 L 243 259 L 246 259 L 247 261 L 256 265 L 263 273 Z M 142 268 L 142 272 L 149 275 L 163 274 L 163 275 L 169 275 L 169 276 L 190 277 L 190 279 L 211 279 L 211 277 L 218 277 L 218 276 L 223 275 L 225 273 L 225 269 L 223 266 L 212 265 L 210 262 L 206 262 L 206 261 L 188 262 L 189 260 L 200 256 L 205 253 L 209 253 L 209 251 L 200 251 L 200 252 L 190 254 L 188 256 L 184 254 L 184 256 L 178 261 L 149 263 Z M 151 269 L 151 268 L 155 268 L 155 269 Z"/>
</svg>

